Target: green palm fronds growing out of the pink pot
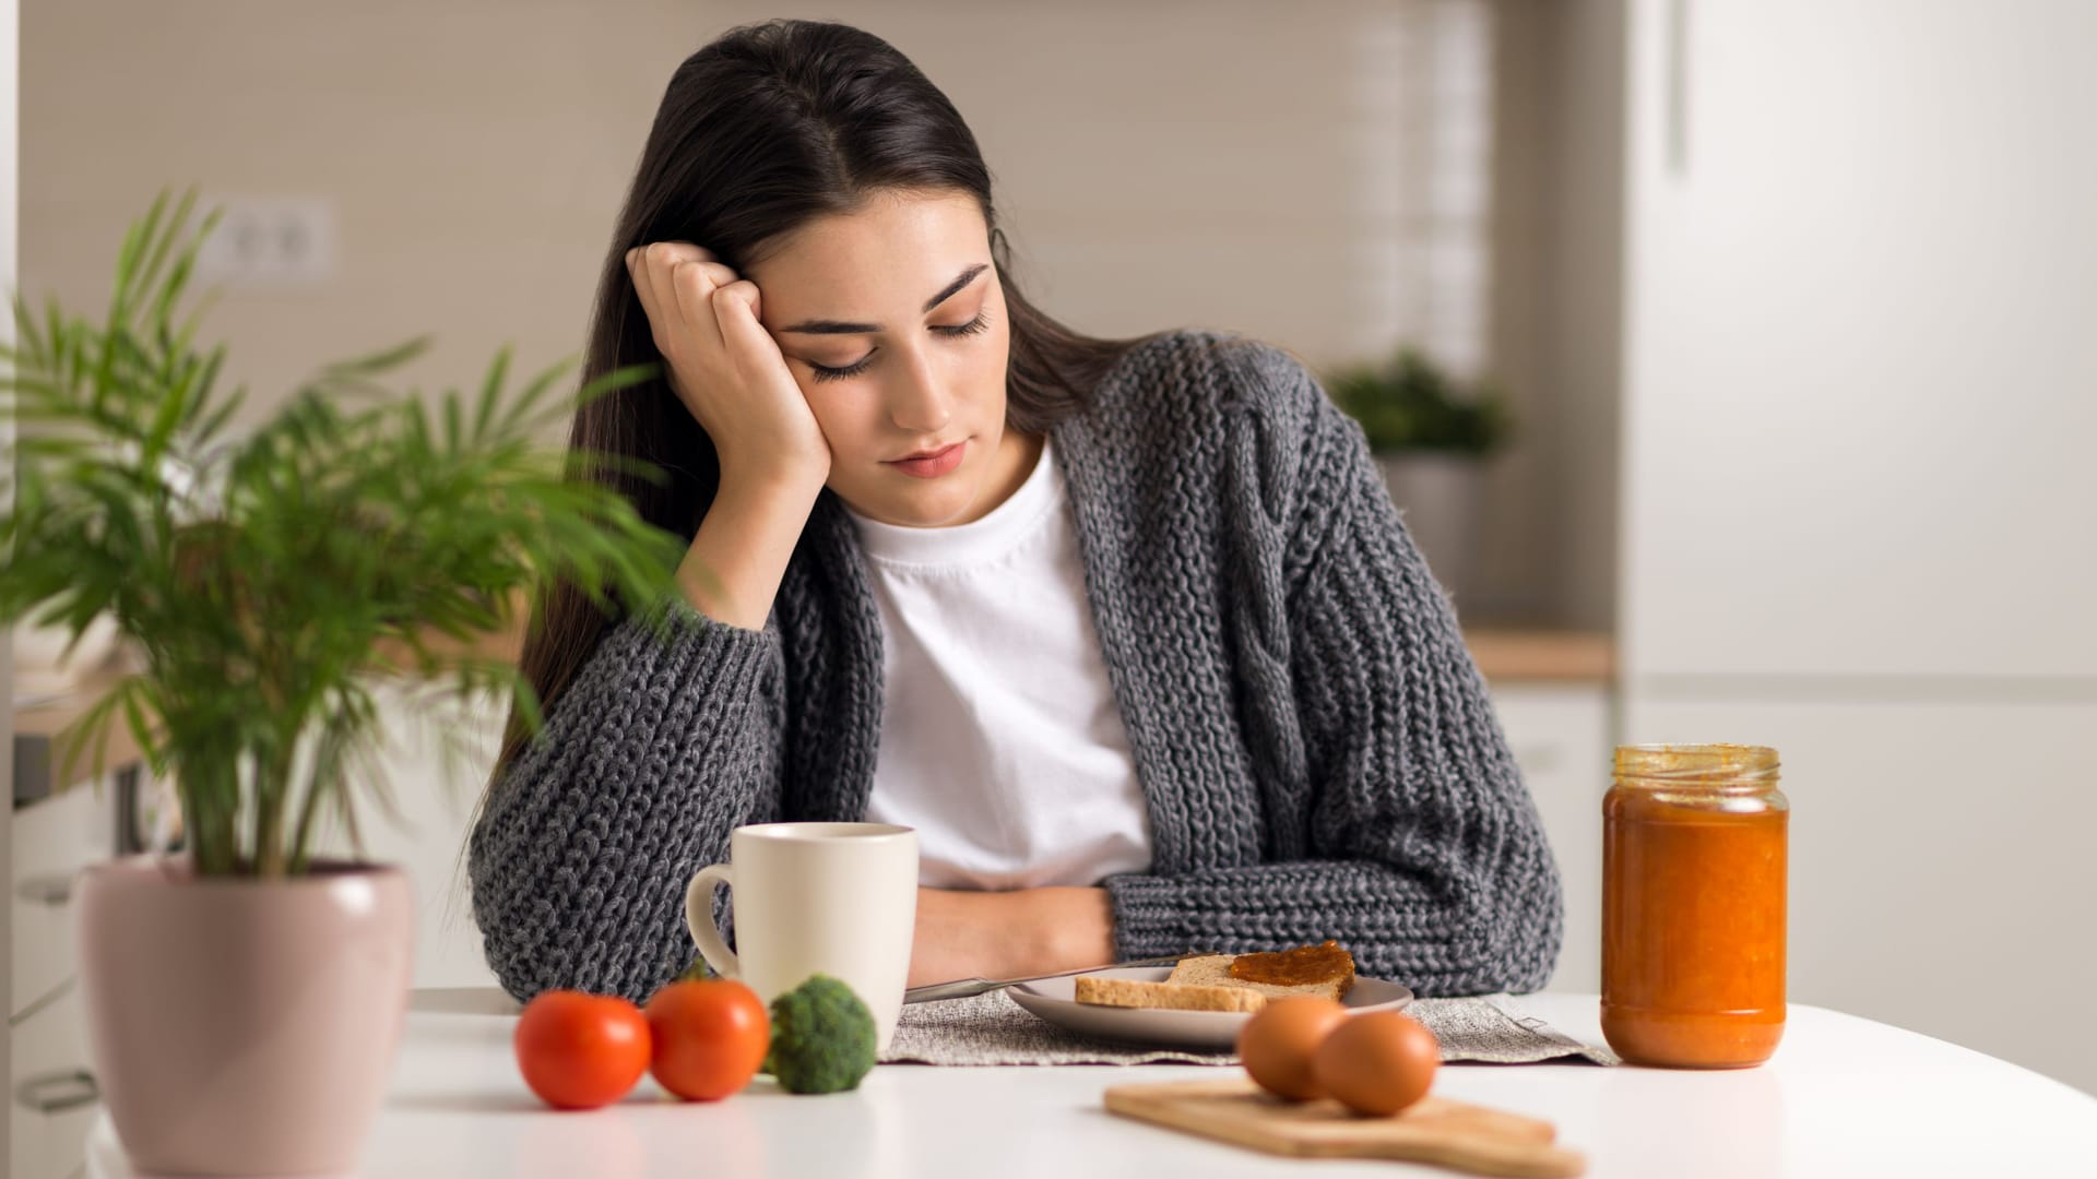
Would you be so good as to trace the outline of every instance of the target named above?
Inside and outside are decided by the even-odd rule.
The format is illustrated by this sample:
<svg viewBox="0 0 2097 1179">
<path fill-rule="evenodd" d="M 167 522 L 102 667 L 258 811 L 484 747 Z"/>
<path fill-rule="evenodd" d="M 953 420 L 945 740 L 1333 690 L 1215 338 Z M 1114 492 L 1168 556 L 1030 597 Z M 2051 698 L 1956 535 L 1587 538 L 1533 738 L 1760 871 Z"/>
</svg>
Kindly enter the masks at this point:
<svg viewBox="0 0 2097 1179">
<path fill-rule="evenodd" d="M 101 323 L 13 300 L 0 411 L 21 436 L 0 512 L 0 621 L 78 638 L 111 615 L 147 669 L 88 711 L 69 755 L 99 759 L 107 728 L 130 726 L 174 776 L 201 873 L 296 875 L 321 818 L 354 837 L 361 801 L 390 810 L 367 772 L 375 684 L 514 701 L 537 730 L 514 667 L 428 636 L 499 631 L 552 579 L 661 602 L 684 541 L 539 441 L 652 365 L 562 394 L 564 361 L 512 392 L 503 348 L 472 396 L 403 394 L 398 369 L 430 344 L 415 338 L 321 365 L 233 436 L 245 388 L 220 388 L 224 346 L 197 344 L 210 296 L 187 298 L 218 214 L 191 229 L 193 206 L 195 193 L 161 193 L 130 227 Z"/>
</svg>

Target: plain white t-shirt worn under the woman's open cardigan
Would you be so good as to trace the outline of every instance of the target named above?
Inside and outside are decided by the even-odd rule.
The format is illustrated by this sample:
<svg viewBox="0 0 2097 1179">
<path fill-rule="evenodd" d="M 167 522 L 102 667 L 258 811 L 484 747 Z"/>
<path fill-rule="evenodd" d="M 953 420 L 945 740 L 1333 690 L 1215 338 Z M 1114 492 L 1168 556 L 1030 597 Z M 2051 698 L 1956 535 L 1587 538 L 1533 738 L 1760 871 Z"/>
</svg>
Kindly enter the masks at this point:
<svg viewBox="0 0 2097 1179">
<path fill-rule="evenodd" d="M 1151 818 L 1084 596 L 1048 443 L 981 520 L 851 512 L 881 606 L 868 822 L 918 833 L 918 883 L 1095 885 L 1151 866 Z"/>
</svg>

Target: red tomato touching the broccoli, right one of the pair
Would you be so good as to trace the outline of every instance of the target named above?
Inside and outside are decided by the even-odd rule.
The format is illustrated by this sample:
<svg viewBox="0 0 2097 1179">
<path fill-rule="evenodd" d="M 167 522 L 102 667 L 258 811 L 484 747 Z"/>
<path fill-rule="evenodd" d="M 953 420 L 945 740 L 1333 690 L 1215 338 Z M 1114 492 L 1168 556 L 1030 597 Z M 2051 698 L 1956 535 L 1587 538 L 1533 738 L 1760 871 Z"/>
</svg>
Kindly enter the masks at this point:
<svg viewBox="0 0 2097 1179">
<path fill-rule="evenodd" d="M 772 1015 L 736 980 L 673 982 L 648 1001 L 648 1072 L 663 1089 L 686 1101 L 719 1101 L 757 1076 L 772 1047 Z"/>
</svg>

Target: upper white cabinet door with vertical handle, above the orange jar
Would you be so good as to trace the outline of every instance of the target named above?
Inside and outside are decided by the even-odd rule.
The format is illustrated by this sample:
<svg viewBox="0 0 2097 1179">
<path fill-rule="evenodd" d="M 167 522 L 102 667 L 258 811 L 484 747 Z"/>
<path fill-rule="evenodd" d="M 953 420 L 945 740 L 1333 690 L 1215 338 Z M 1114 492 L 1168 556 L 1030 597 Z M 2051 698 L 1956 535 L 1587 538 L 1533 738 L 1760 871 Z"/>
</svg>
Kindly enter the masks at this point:
<svg viewBox="0 0 2097 1179">
<path fill-rule="evenodd" d="M 2097 678 L 2097 4 L 1629 15 L 1634 682 Z"/>
</svg>

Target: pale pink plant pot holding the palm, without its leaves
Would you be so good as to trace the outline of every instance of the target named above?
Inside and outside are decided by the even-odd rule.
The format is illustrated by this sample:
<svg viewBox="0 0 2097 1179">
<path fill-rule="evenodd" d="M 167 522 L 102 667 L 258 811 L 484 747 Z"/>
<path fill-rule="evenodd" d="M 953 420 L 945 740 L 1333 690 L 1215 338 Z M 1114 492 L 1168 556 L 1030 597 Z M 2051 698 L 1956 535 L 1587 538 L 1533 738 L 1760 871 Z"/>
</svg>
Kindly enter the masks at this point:
<svg viewBox="0 0 2097 1179">
<path fill-rule="evenodd" d="M 398 869 L 254 881 L 130 856 L 86 869 L 78 902 L 88 1051 L 134 1169 L 356 1169 L 407 1015 Z"/>
</svg>

